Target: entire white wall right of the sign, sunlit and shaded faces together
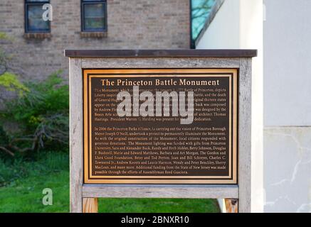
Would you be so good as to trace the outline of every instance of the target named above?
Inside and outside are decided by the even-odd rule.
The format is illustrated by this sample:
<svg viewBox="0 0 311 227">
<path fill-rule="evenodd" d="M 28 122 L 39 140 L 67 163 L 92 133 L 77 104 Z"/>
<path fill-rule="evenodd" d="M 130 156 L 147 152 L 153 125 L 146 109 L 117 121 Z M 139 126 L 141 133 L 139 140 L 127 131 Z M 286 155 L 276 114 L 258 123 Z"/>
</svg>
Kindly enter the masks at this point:
<svg viewBox="0 0 311 227">
<path fill-rule="evenodd" d="M 264 183 L 261 170 L 252 171 L 252 211 L 260 211 L 264 185 L 265 212 L 311 212 L 311 1 L 260 4 L 226 0 L 197 48 L 259 49 L 253 59 L 252 165 L 263 163 Z"/>
</svg>

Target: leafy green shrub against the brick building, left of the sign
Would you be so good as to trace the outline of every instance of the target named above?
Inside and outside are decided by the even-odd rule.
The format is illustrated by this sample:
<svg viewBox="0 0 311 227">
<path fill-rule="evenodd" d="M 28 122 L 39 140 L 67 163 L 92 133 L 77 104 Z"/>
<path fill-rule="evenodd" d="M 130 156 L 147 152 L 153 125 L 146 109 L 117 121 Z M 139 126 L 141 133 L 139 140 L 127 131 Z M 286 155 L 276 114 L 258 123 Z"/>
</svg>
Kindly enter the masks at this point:
<svg viewBox="0 0 311 227">
<path fill-rule="evenodd" d="M 43 82 L 21 84 L 7 74 L 6 83 L 0 83 L 6 89 L 17 88 L 19 94 L 16 99 L 5 101 L 5 108 L 0 111 L 2 152 L 31 156 L 43 149 L 68 149 L 69 91 L 59 74 L 56 72 Z"/>
</svg>

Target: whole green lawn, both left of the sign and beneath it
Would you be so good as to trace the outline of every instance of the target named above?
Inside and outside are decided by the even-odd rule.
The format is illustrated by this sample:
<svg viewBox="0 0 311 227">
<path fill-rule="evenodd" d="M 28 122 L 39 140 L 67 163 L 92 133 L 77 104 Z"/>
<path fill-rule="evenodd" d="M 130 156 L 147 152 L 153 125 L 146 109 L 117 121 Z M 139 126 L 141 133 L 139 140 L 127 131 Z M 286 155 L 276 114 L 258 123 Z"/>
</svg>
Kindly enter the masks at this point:
<svg viewBox="0 0 311 227">
<path fill-rule="evenodd" d="M 36 162 L 0 160 L 0 212 L 68 212 L 68 154 L 41 153 Z M 14 179 L 9 182 L 9 179 Z M 53 190 L 53 205 L 42 190 Z M 219 212 L 215 199 L 99 199 L 99 212 Z"/>
</svg>

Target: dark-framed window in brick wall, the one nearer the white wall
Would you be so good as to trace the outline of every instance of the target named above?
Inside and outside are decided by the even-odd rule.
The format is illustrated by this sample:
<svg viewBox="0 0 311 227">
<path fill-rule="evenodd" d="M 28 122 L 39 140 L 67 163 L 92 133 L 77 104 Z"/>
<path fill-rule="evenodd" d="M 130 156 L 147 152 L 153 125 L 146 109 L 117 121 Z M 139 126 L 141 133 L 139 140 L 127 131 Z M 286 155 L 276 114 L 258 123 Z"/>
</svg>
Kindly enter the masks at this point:
<svg viewBox="0 0 311 227">
<path fill-rule="evenodd" d="M 107 31 L 107 2 L 104 0 L 82 0 L 82 31 Z"/>
</svg>

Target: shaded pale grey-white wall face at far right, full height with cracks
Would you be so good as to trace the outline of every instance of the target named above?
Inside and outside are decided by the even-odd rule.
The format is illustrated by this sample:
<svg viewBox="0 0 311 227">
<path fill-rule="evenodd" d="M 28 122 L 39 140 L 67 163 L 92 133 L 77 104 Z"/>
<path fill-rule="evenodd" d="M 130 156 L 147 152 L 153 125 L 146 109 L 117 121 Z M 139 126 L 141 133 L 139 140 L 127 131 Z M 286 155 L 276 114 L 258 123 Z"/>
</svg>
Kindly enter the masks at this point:
<svg viewBox="0 0 311 227">
<path fill-rule="evenodd" d="M 265 212 L 311 212 L 311 1 L 264 2 Z"/>
</svg>

